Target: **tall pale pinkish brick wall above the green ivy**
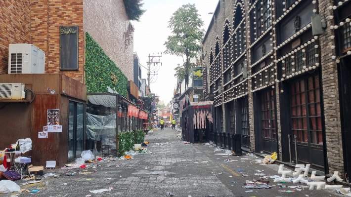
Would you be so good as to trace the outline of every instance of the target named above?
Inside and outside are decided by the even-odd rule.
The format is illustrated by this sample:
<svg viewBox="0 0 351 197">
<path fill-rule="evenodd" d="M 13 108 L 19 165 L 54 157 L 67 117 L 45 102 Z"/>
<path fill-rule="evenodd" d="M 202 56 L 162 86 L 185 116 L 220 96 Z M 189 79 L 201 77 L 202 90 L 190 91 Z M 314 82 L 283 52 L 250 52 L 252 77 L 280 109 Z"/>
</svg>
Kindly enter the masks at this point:
<svg viewBox="0 0 351 197">
<path fill-rule="evenodd" d="M 125 38 L 129 23 L 123 0 L 84 0 L 84 31 L 133 80 L 133 43 Z"/>
</svg>

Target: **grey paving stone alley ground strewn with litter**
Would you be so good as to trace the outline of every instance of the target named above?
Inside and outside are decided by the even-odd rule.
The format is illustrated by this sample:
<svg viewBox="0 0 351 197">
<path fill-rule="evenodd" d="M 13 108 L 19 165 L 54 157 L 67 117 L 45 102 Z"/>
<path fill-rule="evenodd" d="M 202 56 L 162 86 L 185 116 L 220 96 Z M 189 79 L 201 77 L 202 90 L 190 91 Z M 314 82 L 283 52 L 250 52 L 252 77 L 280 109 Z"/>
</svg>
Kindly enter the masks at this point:
<svg viewBox="0 0 351 197">
<path fill-rule="evenodd" d="M 184 144 L 177 135 L 179 132 L 171 128 L 149 132 L 145 137 L 150 144 L 147 147 L 149 154 L 138 154 L 130 160 L 98 162 L 96 169 L 88 168 L 88 175 L 60 176 L 57 178 L 43 178 L 43 183 L 22 186 L 23 189 L 33 190 L 43 187 L 48 181 L 47 189 L 39 193 L 22 193 L 20 197 L 166 197 L 172 192 L 176 197 L 330 197 L 344 196 L 334 190 L 302 190 L 293 193 L 288 188 L 279 188 L 278 183 L 270 182 L 273 189 L 253 189 L 253 193 L 246 193 L 243 188 L 245 180 L 259 179 L 254 173 L 278 175 L 278 165 L 260 165 L 254 163 L 255 158 L 246 156 L 215 155 L 224 152 L 214 152 L 216 148 L 205 146 L 204 143 Z M 224 162 L 225 158 L 237 160 Z M 246 160 L 241 158 L 248 158 Z M 250 160 L 251 159 L 251 160 Z M 208 161 L 207 163 L 201 163 Z M 120 167 L 117 168 L 116 166 Z M 238 169 L 243 169 L 239 172 Z M 80 169 L 82 171 L 82 169 Z M 264 172 L 256 172 L 264 170 Z M 57 174 L 78 172 L 78 169 L 45 170 Z M 150 173 L 160 174 L 150 174 Z M 242 177 L 247 174 L 249 177 Z M 231 176 L 231 177 L 230 177 Z M 87 180 L 88 179 L 88 180 Z M 267 180 L 267 179 L 265 179 Z M 272 179 L 268 179 L 272 181 Z M 236 182 L 236 183 L 233 183 Z M 25 183 L 23 180 L 17 184 Z M 67 185 L 62 185 L 66 184 Z M 298 185 L 282 183 L 282 185 Z M 89 193 L 89 190 L 98 190 L 113 187 L 114 190 L 99 194 Z M 292 189 L 290 189 L 292 190 Z M 0 197 L 9 197 L 3 194 Z"/>
</svg>

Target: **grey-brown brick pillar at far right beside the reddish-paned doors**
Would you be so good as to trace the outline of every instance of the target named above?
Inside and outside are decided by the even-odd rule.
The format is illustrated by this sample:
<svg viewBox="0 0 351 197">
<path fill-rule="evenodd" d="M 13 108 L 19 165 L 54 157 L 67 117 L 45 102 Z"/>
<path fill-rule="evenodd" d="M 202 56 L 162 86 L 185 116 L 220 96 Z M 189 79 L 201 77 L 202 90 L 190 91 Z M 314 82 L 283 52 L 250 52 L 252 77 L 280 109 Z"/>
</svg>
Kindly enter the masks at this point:
<svg viewBox="0 0 351 197">
<path fill-rule="evenodd" d="M 319 1 L 320 10 L 323 10 L 323 7 L 329 7 L 330 5 L 334 4 L 328 0 Z M 334 171 L 339 171 L 339 176 L 344 177 L 338 69 L 336 62 L 331 58 L 332 55 L 335 55 L 335 52 L 331 49 L 331 46 L 335 45 L 335 40 L 330 37 L 335 34 L 334 31 L 329 28 L 331 25 L 338 24 L 334 24 L 333 20 L 328 17 L 333 15 L 332 10 L 326 9 L 325 12 L 320 11 L 320 14 L 322 18 L 326 17 L 328 22 L 327 29 L 325 29 L 324 33 L 320 36 L 320 54 L 322 63 L 323 105 L 329 176 L 333 175 Z"/>
</svg>

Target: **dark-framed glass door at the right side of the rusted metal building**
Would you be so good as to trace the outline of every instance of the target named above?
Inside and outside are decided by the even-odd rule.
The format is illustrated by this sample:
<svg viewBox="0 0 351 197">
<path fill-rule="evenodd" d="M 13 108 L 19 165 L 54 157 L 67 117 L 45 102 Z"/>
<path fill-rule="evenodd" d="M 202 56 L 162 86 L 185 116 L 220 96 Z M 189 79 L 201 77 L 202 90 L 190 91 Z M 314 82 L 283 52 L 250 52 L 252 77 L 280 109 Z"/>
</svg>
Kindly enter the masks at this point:
<svg viewBox="0 0 351 197">
<path fill-rule="evenodd" d="M 84 104 L 69 102 L 68 160 L 80 158 L 84 145 Z"/>
</svg>

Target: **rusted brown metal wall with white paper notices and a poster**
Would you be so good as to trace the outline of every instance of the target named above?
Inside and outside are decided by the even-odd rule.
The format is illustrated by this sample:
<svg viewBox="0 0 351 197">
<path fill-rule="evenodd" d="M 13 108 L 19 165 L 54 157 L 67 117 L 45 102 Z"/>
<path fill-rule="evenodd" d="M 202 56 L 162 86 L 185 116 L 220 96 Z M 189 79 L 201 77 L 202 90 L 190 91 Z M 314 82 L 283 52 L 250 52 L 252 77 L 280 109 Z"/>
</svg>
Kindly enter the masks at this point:
<svg viewBox="0 0 351 197">
<path fill-rule="evenodd" d="M 25 83 L 26 87 L 32 84 L 35 99 L 32 103 L 0 102 L 0 134 L 5 134 L 0 138 L 0 149 L 30 137 L 33 165 L 45 165 L 47 160 L 56 160 L 57 166 L 64 165 L 68 158 L 69 100 L 85 103 L 86 85 L 63 74 L 0 75 L 0 83 L 3 82 Z M 48 133 L 47 139 L 39 139 L 38 132 L 47 124 L 46 110 L 50 109 L 60 109 L 62 132 Z M 9 144 L 3 143 L 7 141 Z"/>
</svg>

